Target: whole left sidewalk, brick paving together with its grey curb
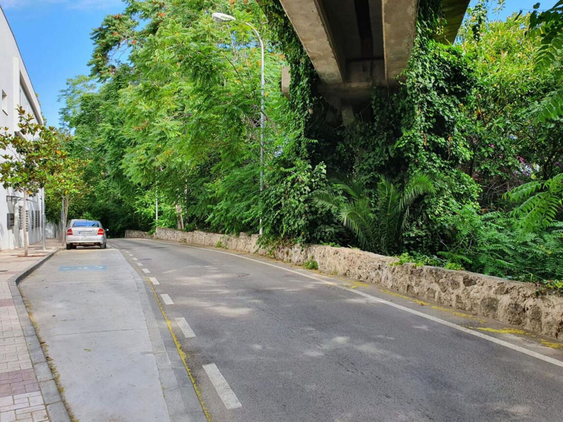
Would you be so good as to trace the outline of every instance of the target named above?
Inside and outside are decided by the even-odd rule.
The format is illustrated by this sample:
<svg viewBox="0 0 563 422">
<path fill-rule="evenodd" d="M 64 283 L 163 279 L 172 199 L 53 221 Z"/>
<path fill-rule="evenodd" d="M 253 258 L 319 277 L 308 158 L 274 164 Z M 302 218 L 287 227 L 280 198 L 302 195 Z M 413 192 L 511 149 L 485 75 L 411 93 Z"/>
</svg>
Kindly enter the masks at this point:
<svg viewBox="0 0 563 422">
<path fill-rule="evenodd" d="M 60 249 L 55 239 L 0 251 L 0 422 L 69 421 L 16 282 Z"/>
</svg>

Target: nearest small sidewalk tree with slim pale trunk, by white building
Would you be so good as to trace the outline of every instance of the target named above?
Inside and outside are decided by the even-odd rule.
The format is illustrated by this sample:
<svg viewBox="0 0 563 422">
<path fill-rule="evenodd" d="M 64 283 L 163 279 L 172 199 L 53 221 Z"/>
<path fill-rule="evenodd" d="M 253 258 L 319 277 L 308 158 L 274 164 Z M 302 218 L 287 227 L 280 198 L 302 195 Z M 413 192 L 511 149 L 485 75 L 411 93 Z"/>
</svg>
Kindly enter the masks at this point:
<svg viewBox="0 0 563 422">
<path fill-rule="evenodd" d="M 23 107 L 17 110 L 20 116 L 19 131 L 0 133 L 0 149 L 5 150 L 0 163 L 0 183 L 23 194 L 24 255 L 28 256 L 27 199 L 37 195 L 62 166 L 64 155 L 59 149 L 61 134 L 55 128 L 46 128 L 26 114 Z"/>
</svg>

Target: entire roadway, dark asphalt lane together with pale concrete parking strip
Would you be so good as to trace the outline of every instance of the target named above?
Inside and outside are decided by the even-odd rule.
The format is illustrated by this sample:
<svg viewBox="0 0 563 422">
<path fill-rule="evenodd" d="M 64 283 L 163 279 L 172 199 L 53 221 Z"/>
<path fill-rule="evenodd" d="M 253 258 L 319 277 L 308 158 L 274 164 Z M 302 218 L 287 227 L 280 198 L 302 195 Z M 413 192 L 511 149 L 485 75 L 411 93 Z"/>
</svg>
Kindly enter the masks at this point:
<svg viewBox="0 0 563 422">
<path fill-rule="evenodd" d="M 563 421 L 539 338 L 254 255 L 108 245 L 20 285 L 82 422 L 205 420 L 184 363 L 218 422 Z"/>
</svg>

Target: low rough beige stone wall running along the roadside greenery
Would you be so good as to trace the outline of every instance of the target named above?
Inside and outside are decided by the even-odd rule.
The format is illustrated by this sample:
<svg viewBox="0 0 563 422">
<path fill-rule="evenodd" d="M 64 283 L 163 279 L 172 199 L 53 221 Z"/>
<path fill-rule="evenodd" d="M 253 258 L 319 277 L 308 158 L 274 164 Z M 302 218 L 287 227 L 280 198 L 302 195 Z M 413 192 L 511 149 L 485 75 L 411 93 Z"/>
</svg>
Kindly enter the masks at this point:
<svg viewBox="0 0 563 422">
<path fill-rule="evenodd" d="M 468 271 L 414 264 L 390 265 L 395 258 L 358 249 L 294 245 L 265 249 L 257 246 L 258 235 L 226 236 L 201 231 L 184 232 L 159 228 L 158 235 L 127 230 L 126 237 L 171 240 L 217 246 L 240 252 L 269 255 L 284 262 L 302 264 L 315 259 L 319 270 L 371 282 L 387 289 L 432 300 L 474 315 L 494 318 L 554 338 L 563 338 L 563 297 L 537 294 L 533 284 L 484 276 Z"/>
</svg>

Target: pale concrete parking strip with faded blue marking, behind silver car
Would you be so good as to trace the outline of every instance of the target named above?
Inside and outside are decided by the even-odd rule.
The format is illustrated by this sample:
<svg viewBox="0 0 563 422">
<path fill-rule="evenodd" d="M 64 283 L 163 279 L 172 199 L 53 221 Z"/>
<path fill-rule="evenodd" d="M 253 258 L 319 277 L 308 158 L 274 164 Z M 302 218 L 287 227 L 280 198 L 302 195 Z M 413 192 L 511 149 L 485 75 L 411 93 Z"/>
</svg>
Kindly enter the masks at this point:
<svg viewBox="0 0 563 422">
<path fill-rule="evenodd" d="M 205 420 L 154 295 L 119 251 L 64 250 L 20 289 L 77 420 Z"/>
</svg>

